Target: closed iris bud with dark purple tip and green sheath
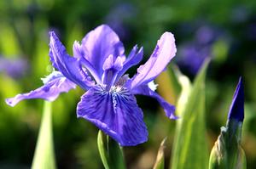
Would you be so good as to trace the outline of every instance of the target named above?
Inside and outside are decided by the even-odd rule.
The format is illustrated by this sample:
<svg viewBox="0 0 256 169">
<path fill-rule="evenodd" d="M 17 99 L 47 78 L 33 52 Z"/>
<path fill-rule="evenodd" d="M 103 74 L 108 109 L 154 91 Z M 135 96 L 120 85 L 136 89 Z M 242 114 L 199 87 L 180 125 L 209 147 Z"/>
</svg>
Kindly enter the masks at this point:
<svg viewBox="0 0 256 169">
<path fill-rule="evenodd" d="M 241 148 L 241 128 L 244 119 L 244 92 L 240 78 L 236 87 L 228 120 L 210 155 L 209 169 L 245 169 L 246 155 Z"/>
</svg>

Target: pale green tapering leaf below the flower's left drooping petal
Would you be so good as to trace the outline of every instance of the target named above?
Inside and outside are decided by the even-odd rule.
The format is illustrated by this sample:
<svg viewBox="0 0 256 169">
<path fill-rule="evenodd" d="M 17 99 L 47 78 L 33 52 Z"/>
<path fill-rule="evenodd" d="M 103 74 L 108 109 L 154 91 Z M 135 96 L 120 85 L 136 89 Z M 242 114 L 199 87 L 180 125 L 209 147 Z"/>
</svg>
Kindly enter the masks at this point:
<svg viewBox="0 0 256 169">
<path fill-rule="evenodd" d="M 32 169 L 55 169 L 55 152 L 52 134 L 51 103 L 44 101 L 43 117 L 39 129 Z"/>
</svg>

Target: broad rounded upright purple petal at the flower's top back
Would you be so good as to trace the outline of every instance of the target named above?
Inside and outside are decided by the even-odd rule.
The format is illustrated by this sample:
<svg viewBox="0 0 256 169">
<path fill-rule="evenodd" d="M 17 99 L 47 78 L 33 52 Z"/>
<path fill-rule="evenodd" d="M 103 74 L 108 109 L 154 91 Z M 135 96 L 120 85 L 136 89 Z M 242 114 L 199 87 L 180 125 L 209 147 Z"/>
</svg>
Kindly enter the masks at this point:
<svg viewBox="0 0 256 169">
<path fill-rule="evenodd" d="M 100 25 L 84 37 L 81 47 L 75 52 L 83 55 L 94 66 L 97 74 L 102 76 L 102 65 L 108 56 L 113 54 L 116 59 L 124 55 L 125 49 L 117 34 L 108 25 Z"/>
</svg>

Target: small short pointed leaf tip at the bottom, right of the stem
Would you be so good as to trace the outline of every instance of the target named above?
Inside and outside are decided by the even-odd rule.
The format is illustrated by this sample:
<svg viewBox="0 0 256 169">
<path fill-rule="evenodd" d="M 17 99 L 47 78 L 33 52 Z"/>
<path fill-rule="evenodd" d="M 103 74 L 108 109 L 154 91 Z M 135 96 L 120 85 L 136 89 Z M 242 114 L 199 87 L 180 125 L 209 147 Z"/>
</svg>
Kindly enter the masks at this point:
<svg viewBox="0 0 256 169">
<path fill-rule="evenodd" d="M 160 144 L 158 149 L 158 154 L 156 156 L 156 161 L 154 163 L 153 169 L 164 169 L 165 168 L 165 149 L 166 149 L 166 138 Z"/>
</svg>

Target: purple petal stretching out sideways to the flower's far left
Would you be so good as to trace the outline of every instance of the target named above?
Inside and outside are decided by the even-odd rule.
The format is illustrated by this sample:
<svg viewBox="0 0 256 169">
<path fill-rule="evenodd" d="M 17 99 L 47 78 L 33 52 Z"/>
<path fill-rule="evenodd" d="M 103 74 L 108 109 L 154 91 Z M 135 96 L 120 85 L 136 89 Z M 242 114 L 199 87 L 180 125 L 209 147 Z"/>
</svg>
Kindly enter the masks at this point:
<svg viewBox="0 0 256 169">
<path fill-rule="evenodd" d="M 18 94 L 15 98 L 6 99 L 6 103 L 10 106 L 15 106 L 15 104 L 18 104 L 23 99 L 45 99 L 54 101 L 60 93 L 67 93 L 70 89 L 76 87 L 73 82 L 69 81 L 59 71 L 54 71 L 42 80 L 44 86 L 32 90 L 30 93 Z"/>
</svg>

